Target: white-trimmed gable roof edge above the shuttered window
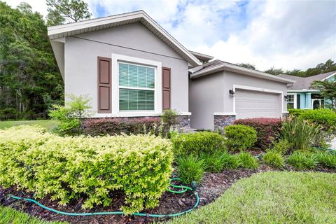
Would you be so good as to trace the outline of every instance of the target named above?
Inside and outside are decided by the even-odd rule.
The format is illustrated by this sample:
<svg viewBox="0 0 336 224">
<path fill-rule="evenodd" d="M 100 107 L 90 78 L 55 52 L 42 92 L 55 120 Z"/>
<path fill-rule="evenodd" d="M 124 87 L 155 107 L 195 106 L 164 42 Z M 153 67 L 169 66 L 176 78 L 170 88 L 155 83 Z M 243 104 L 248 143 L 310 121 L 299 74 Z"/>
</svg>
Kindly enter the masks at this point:
<svg viewBox="0 0 336 224">
<path fill-rule="evenodd" d="M 59 55 L 62 54 L 62 50 L 57 49 L 61 45 L 57 45 L 55 42 L 64 42 L 64 37 L 84 34 L 91 31 L 97 31 L 99 29 L 118 27 L 120 25 L 127 25 L 134 22 L 141 22 L 145 27 L 152 31 L 153 34 L 167 43 L 167 45 L 169 45 L 169 47 L 181 55 L 181 57 L 186 59 L 186 61 L 189 62 L 189 64 L 192 66 L 198 66 L 202 64 L 200 60 L 197 59 L 195 55 L 193 55 L 193 53 L 187 50 L 181 43 L 179 43 L 179 41 L 176 41 L 173 36 L 171 36 L 165 29 L 158 25 L 158 23 L 155 22 L 143 10 L 48 27 L 48 36 L 50 38 L 50 42 L 52 43 L 52 49 L 54 50 L 56 59 L 58 58 L 57 64 L 62 61 L 62 57 Z M 59 67 L 59 69 L 62 69 L 62 66 Z"/>
</svg>

